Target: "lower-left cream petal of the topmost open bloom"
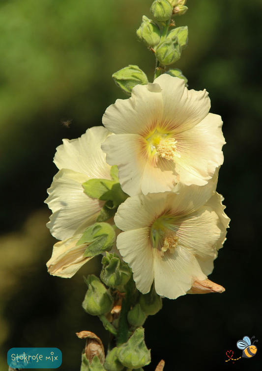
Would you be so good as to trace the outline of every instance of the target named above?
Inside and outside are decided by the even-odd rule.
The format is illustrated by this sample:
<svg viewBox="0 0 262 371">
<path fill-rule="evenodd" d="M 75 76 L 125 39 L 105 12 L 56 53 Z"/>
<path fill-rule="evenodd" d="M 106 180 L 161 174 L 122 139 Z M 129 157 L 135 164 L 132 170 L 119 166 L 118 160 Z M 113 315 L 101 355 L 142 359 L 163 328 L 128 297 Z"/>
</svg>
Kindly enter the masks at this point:
<svg viewBox="0 0 262 371">
<path fill-rule="evenodd" d="M 141 183 L 146 166 L 143 154 L 143 138 L 137 134 L 111 135 L 102 143 L 110 165 L 117 165 L 118 177 L 123 191 L 130 196 L 141 193 Z"/>
</svg>

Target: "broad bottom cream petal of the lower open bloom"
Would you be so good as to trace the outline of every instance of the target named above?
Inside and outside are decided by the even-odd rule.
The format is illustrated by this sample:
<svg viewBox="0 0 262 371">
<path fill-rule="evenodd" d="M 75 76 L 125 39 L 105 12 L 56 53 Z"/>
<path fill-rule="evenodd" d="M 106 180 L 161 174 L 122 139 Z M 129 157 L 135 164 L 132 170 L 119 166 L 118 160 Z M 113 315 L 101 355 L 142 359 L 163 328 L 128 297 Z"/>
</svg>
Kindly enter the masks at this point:
<svg viewBox="0 0 262 371">
<path fill-rule="evenodd" d="M 178 246 L 173 254 L 167 251 L 162 257 L 160 252 L 154 249 L 154 280 L 158 295 L 169 299 L 185 295 L 196 279 L 193 277 L 199 280 L 206 279 L 190 250 Z"/>
</svg>

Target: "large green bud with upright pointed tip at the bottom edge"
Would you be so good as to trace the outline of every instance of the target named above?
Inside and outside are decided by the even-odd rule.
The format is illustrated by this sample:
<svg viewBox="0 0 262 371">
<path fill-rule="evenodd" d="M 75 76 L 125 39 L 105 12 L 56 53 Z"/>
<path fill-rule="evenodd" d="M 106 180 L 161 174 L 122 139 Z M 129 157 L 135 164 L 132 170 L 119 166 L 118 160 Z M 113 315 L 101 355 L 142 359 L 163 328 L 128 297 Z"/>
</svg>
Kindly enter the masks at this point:
<svg viewBox="0 0 262 371">
<path fill-rule="evenodd" d="M 144 328 L 137 328 L 127 343 L 122 344 L 116 356 L 118 360 L 130 369 L 139 369 L 150 363 L 150 350 L 146 348 Z"/>
</svg>

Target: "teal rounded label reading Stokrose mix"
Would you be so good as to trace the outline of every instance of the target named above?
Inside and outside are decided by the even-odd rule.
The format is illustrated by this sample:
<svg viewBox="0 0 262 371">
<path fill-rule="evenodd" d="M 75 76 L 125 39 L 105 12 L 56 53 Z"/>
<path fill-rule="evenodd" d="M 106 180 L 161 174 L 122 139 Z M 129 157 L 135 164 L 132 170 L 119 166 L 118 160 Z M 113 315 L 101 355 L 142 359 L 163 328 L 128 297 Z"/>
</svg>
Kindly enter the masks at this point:
<svg viewBox="0 0 262 371">
<path fill-rule="evenodd" d="M 57 369 L 62 363 L 58 348 L 11 348 L 7 364 L 12 369 Z"/>
</svg>

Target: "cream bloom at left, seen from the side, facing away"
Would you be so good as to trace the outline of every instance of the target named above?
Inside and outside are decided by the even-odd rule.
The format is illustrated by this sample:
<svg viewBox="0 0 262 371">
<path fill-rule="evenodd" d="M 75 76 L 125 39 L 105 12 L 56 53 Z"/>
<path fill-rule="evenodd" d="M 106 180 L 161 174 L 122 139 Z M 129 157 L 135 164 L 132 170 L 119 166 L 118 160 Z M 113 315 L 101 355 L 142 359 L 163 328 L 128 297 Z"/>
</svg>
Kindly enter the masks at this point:
<svg viewBox="0 0 262 371">
<path fill-rule="evenodd" d="M 105 201 L 88 197 L 82 184 L 95 178 L 112 180 L 111 166 L 101 150 L 111 134 L 104 127 L 93 127 L 78 139 L 63 139 L 58 146 L 54 162 L 59 171 L 45 201 L 53 212 L 47 227 L 55 238 L 71 238 L 95 223 Z"/>
</svg>

